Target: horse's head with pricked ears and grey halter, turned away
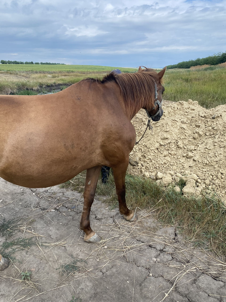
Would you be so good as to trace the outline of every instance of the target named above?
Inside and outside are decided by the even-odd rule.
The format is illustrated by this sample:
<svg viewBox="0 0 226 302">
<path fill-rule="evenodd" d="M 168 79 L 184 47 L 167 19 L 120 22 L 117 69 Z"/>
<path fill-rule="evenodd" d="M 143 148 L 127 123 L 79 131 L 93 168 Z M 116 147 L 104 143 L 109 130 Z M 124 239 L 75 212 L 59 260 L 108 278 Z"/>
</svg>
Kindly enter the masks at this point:
<svg viewBox="0 0 226 302">
<path fill-rule="evenodd" d="M 139 67 L 138 71 L 143 70 L 141 67 Z M 166 66 L 159 72 L 157 73 L 157 77 L 155 80 L 155 101 L 154 101 L 154 106 L 150 110 L 149 108 L 143 107 L 143 109 L 146 110 L 148 117 L 151 117 L 151 119 L 154 122 L 157 122 L 160 120 L 163 114 L 162 110 L 162 94 L 165 91 L 165 88 L 162 86 L 162 77 L 166 71 Z"/>
</svg>

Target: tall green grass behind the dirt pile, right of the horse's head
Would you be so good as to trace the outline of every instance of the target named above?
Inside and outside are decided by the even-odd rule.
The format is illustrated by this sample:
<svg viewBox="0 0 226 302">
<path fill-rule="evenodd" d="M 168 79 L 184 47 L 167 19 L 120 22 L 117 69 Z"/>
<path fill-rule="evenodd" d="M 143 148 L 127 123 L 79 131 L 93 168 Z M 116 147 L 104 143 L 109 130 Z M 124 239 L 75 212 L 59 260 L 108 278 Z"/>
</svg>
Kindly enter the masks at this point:
<svg viewBox="0 0 226 302">
<path fill-rule="evenodd" d="M 171 69 L 164 75 L 163 98 L 198 101 L 205 108 L 226 104 L 226 68 L 210 70 Z"/>
</svg>

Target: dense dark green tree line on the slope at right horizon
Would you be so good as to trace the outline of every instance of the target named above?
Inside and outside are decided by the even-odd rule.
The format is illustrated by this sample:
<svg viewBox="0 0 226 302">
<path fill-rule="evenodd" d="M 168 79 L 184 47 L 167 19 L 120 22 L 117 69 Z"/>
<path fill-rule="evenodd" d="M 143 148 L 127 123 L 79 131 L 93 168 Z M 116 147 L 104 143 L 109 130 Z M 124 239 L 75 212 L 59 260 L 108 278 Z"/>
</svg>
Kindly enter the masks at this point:
<svg viewBox="0 0 226 302">
<path fill-rule="evenodd" d="M 197 58 L 195 60 L 183 61 L 174 65 L 168 65 L 168 69 L 172 68 L 190 68 L 191 66 L 198 66 L 198 65 L 217 65 L 220 63 L 226 62 L 226 52 L 225 53 L 215 53 L 212 56 L 208 56 L 206 58 Z"/>
</svg>

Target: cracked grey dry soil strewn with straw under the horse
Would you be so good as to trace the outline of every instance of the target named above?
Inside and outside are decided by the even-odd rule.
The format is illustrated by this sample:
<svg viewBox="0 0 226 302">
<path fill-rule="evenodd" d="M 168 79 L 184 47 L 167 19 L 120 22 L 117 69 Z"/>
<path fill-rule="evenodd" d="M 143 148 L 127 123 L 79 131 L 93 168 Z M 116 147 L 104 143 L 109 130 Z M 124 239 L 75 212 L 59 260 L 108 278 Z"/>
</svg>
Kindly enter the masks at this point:
<svg viewBox="0 0 226 302">
<path fill-rule="evenodd" d="M 3 179 L 0 192 L 0 219 L 13 220 L 8 237 L 0 236 L 11 259 L 0 273 L 1 302 L 226 302 L 223 259 L 187 244 L 150 211 L 138 211 L 130 223 L 96 199 L 91 226 L 103 240 L 89 244 L 79 229 L 80 193 Z M 30 281 L 21 281 L 26 271 Z"/>
</svg>

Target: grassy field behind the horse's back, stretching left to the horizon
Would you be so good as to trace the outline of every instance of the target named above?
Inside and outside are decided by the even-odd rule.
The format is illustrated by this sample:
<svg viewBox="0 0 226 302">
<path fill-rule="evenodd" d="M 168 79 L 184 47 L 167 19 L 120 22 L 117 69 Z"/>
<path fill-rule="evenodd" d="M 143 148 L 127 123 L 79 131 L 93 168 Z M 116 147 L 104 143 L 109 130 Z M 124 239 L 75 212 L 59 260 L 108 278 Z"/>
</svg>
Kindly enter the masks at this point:
<svg viewBox="0 0 226 302">
<path fill-rule="evenodd" d="M 72 85 L 80 80 L 103 78 L 118 67 L 90 65 L 31 65 L 0 64 L 0 94 L 16 94 L 18 91 L 42 90 L 46 86 Z M 137 69 L 120 68 L 122 72 Z"/>
</svg>

